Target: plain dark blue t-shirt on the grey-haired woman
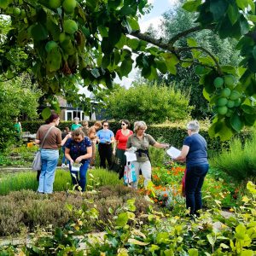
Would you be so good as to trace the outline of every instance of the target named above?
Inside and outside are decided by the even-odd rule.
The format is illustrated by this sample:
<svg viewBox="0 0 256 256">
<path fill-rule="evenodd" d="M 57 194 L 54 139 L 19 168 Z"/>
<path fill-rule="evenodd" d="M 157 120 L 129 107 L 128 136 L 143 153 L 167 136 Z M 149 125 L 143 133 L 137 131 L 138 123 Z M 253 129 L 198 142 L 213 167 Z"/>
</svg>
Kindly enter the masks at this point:
<svg viewBox="0 0 256 256">
<path fill-rule="evenodd" d="M 208 164 L 207 142 L 200 134 L 195 133 L 184 139 L 183 145 L 189 146 L 186 157 L 187 166 L 201 166 Z"/>
</svg>

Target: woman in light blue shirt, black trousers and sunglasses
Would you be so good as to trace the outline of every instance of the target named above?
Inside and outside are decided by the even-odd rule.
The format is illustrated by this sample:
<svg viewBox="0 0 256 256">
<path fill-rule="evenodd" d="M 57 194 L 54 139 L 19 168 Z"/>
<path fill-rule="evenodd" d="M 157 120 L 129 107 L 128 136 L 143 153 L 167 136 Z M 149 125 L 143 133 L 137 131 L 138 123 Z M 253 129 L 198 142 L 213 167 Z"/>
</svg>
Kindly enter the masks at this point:
<svg viewBox="0 0 256 256">
<path fill-rule="evenodd" d="M 99 142 L 100 167 L 106 168 L 106 160 L 108 160 L 108 168 L 110 169 L 112 167 L 111 144 L 114 142 L 114 136 L 113 131 L 108 129 L 108 121 L 103 121 L 102 126 L 103 129 L 96 133 Z"/>
</svg>

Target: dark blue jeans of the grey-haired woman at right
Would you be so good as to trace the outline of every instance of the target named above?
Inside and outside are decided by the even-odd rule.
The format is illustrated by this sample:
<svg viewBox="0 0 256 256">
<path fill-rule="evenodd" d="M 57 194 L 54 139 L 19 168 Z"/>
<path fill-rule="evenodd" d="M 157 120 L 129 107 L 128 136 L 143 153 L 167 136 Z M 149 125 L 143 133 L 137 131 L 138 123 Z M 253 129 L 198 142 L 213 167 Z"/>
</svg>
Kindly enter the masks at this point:
<svg viewBox="0 0 256 256">
<path fill-rule="evenodd" d="M 185 179 L 186 207 L 190 214 L 196 214 L 202 208 L 201 187 L 207 175 L 209 165 L 187 166 Z"/>
</svg>

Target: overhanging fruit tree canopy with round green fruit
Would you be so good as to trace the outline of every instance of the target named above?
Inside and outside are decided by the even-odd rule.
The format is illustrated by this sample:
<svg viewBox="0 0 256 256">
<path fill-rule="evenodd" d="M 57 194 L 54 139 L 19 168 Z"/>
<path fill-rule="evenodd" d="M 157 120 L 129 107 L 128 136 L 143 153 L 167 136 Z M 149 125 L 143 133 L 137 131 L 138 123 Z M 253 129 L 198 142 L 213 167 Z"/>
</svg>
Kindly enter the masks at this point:
<svg viewBox="0 0 256 256">
<path fill-rule="evenodd" d="M 149 11 L 147 0 L 0 0 L 11 30 L 1 43 L 1 71 L 9 79 L 31 69 L 48 95 L 72 92 L 76 78 L 96 90 L 131 72 L 132 53 L 146 79 L 157 72 L 177 73 L 177 65 L 198 63 L 204 96 L 216 105 L 210 134 L 228 139 L 256 119 L 256 33 L 253 0 L 191 0 L 183 8 L 196 12 L 200 26 L 173 35 L 166 44 L 140 32 L 138 17 Z M 239 39 L 241 67 L 220 66 L 194 39 L 177 47 L 178 38 L 212 29 L 221 38 Z M 133 37 L 131 37 L 133 36 Z M 17 55 L 20 50 L 26 53 Z M 191 57 L 183 60 L 183 52 Z"/>
</svg>

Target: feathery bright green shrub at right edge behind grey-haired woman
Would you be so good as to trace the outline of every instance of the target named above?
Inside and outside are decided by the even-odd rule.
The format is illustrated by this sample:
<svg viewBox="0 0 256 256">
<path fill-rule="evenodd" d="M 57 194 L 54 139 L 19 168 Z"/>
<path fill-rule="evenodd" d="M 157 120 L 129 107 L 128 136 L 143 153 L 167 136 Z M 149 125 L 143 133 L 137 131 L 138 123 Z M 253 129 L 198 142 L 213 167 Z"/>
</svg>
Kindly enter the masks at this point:
<svg viewBox="0 0 256 256">
<path fill-rule="evenodd" d="M 253 131 L 251 139 L 246 139 L 245 143 L 240 138 L 230 141 L 230 150 L 223 151 L 213 158 L 212 166 L 218 168 L 236 181 L 247 180 L 248 177 L 256 176 L 256 130 Z"/>
</svg>

